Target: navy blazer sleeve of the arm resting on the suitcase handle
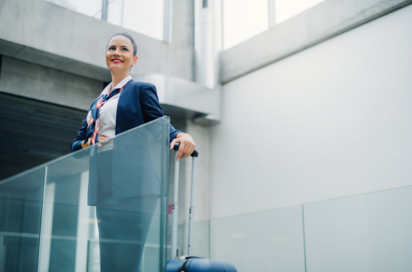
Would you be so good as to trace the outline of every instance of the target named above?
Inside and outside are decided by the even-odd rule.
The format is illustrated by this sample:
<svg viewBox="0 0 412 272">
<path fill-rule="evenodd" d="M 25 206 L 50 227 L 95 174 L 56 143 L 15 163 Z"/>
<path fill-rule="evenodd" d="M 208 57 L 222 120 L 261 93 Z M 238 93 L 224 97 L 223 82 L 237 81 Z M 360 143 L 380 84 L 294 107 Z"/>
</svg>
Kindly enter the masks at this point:
<svg viewBox="0 0 412 272">
<path fill-rule="evenodd" d="M 163 109 L 161 109 L 159 98 L 157 98 L 156 87 L 153 84 L 146 84 L 143 87 L 142 98 L 140 99 L 141 113 L 145 123 L 163 117 Z M 182 133 L 170 125 L 170 142 L 176 138 L 176 135 Z"/>
</svg>

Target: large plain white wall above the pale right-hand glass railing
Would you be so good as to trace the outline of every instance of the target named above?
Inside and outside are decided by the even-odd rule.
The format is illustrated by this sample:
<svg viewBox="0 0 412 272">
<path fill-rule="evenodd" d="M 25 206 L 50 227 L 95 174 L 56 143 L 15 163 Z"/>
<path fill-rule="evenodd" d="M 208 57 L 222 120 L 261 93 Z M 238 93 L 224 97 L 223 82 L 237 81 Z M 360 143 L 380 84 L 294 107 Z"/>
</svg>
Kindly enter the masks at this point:
<svg viewBox="0 0 412 272">
<path fill-rule="evenodd" d="M 409 5 L 225 84 L 211 218 L 412 185 L 411 30 Z"/>
</svg>

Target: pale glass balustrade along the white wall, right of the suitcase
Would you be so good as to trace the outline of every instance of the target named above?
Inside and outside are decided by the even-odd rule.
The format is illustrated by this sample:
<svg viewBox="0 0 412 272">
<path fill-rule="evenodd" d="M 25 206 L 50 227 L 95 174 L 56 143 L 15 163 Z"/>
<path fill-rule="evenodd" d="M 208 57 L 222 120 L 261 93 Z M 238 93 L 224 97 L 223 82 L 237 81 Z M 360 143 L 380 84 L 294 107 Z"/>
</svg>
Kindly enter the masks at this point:
<svg viewBox="0 0 412 272">
<path fill-rule="evenodd" d="M 412 271 L 412 186 L 209 223 L 194 229 L 194 255 L 209 242 L 211 259 L 239 272 Z"/>
</svg>

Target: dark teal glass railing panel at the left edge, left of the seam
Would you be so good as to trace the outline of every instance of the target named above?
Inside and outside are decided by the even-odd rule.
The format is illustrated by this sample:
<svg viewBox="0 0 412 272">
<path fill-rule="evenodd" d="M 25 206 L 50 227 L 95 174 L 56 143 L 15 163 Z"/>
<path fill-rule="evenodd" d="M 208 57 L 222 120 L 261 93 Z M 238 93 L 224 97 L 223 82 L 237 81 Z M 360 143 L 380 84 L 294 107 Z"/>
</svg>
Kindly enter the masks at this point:
<svg viewBox="0 0 412 272">
<path fill-rule="evenodd" d="M 45 168 L 0 181 L 0 271 L 37 271 Z"/>
</svg>

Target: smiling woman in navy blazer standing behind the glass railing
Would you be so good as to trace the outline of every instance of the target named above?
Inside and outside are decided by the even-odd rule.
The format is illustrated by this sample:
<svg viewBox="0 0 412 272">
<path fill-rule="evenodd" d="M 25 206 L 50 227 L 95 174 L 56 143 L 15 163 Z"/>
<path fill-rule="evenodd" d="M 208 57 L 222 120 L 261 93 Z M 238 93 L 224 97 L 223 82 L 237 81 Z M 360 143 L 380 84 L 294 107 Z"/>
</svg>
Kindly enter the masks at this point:
<svg viewBox="0 0 412 272">
<path fill-rule="evenodd" d="M 137 45 L 132 36 L 113 35 L 106 45 L 105 56 L 112 82 L 91 103 L 87 118 L 71 143 L 72 152 L 100 145 L 119 133 L 163 116 L 155 86 L 134 82 L 129 75 L 137 63 Z M 190 156 L 196 147 L 189 134 L 170 126 L 170 149 L 178 142 L 181 145 L 177 159 Z M 159 192 L 150 186 L 139 187 L 133 179 L 116 172 L 116 163 L 121 165 L 119 168 L 123 165 L 116 158 L 119 157 L 108 150 L 91 159 L 88 204 L 96 205 L 101 271 L 135 272 L 139 271 Z M 95 187 L 91 188 L 93 182 Z"/>
</svg>

